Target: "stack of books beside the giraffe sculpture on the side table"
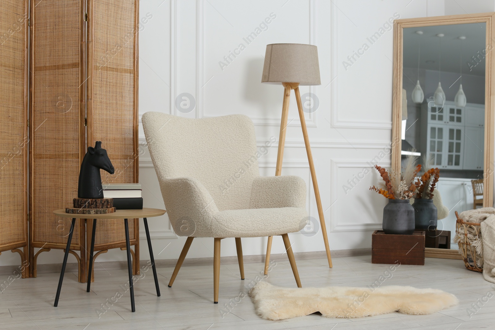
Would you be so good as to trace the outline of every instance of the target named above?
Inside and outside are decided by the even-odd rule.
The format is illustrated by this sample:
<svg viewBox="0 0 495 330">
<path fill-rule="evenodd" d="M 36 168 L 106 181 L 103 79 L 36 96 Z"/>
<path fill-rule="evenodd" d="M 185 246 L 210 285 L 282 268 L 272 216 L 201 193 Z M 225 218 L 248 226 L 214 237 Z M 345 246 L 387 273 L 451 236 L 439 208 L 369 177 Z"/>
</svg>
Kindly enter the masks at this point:
<svg viewBox="0 0 495 330">
<path fill-rule="evenodd" d="M 143 209 L 140 184 L 103 185 L 103 197 L 113 198 L 113 207 L 117 210 Z"/>
</svg>

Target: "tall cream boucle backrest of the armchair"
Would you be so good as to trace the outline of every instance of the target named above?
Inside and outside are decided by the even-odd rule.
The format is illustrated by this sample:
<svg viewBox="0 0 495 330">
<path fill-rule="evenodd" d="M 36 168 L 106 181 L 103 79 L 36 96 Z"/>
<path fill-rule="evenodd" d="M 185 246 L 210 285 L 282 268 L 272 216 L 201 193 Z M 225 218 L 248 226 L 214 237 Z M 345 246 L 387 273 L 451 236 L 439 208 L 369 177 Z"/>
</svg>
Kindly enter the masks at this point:
<svg viewBox="0 0 495 330">
<path fill-rule="evenodd" d="M 167 178 L 193 177 L 219 211 L 249 208 L 259 169 L 254 126 L 247 116 L 189 119 L 147 112 L 142 121 L 162 191 Z"/>
</svg>

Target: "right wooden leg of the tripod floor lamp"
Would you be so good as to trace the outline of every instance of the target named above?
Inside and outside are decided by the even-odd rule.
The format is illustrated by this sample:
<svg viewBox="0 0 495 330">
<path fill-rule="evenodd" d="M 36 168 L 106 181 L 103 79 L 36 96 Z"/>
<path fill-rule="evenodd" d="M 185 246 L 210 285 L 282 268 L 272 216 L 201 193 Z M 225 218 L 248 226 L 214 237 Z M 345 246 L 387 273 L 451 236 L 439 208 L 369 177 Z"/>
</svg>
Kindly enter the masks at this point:
<svg viewBox="0 0 495 330">
<path fill-rule="evenodd" d="M 325 218 L 323 217 L 323 207 L 321 206 L 320 189 L 318 189 L 318 181 L 316 180 L 316 171 L 314 169 L 313 156 L 311 154 L 311 146 L 309 145 L 308 132 L 306 129 L 306 121 L 304 120 L 304 112 L 302 111 L 302 102 L 301 102 L 301 94 L 299 93 L 299 87 L 296 87 L 294 89 L 294 92 L 296 92 L 297 109 L 299 110 L 302 136 L 304 137 L 304 144 L 306 146 L 306 153 L 308 155 L 309 170 L 311 172 L 311 179 L 313 181 L 314 196 L 316 198 L 316 205 L 318 207 L 318 216 L 320 218 L 323 241 L 325 242 L 325 249 L 327 251 L 328 266 L 332 268 L 332 256 L 330 255 L 330 246 L 328 245 L 327 226 L 325 225 Z"/>
</svg>

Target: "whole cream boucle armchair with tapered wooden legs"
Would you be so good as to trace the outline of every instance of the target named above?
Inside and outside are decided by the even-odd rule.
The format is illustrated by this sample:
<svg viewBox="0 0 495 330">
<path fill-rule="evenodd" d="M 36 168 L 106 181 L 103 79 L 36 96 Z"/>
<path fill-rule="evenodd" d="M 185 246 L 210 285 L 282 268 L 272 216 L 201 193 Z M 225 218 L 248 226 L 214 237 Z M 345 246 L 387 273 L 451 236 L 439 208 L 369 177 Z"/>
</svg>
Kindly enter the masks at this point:
<svg viewBox="0 0 495 330">
<path fill-rule="evenodd" d="M 214 302 L 218 303 L 220 240 L 235 237 L 241 279 L 241 237 L 281 235 L 301 287 L 287 233 L 306 225 L 306 185 L 296 176 L 260 177 L 256 137 L 244 115 L 188 119 L 143 115 L 143 128 L 175 233 L 188 236 L 168 286 L 194 237 L 214 237 Z"/>
</svg>

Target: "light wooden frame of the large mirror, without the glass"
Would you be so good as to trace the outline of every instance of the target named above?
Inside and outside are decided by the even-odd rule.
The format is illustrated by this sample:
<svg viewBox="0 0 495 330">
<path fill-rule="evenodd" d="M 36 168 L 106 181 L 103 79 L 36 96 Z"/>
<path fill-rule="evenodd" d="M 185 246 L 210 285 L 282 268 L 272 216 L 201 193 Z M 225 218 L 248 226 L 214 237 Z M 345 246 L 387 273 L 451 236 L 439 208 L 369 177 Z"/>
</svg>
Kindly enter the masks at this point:
<svg viewBox="0 0 495 330">
<path fill-rule="evenodd" d="M 423 26 L 486 23 L 486 45 L 490 47 L 487 53 L 485 68 L 485 154 L 483 207 L 493 207 L 494 201 L 494 78 L 495 78 L 495 12 L 435 16 L 424 18 L 398 19 L 394 22 L 394 68 L 393 68 L 393 95 L 392 95 L 392 169 L 400 173 L 401 157 L 401 129 L 402 129 L 402 49 L 403 29 Z M 451 210 L 452 211 L 452 210 Z M 425 248 L 426 257 L 462 259 L 457 250 Z"/>
</svg>

